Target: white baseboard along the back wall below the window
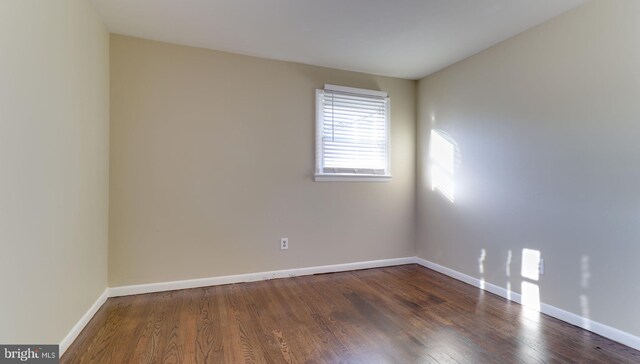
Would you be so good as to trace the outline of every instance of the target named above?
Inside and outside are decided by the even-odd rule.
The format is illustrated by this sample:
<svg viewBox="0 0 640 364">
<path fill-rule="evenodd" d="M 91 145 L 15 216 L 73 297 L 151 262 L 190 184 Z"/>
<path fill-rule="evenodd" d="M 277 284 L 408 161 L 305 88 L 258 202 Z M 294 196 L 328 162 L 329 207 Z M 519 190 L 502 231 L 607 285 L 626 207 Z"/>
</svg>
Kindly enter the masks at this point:
<svg viewBox="0 0 640 364">
<path fill-rule="evenodd" d="M 136 284 L 132 286 L 120 286 L 109 288 L 109 297 L 129 296 L 134 294 L 174 291 L 177 289 L 198 288 L 207 286 L 217 286 L 221 284 L 255 282 L 274 278 L 287 278 L 306 276 L 320 273 L 345 272 L 357 269 L 389 267 L 394 265 L 415 263 L 415 257 L 394 258 L 382 260 L 370 260 L 366 262 L 322 265 L 309 268 L 294 268 L 275 270 L 270 272 L 258 272 L 248 274 L 237 274 L 231 276 L 219 276 L 210 278 L 186 279 L 182 281 Z"/>
</svg>

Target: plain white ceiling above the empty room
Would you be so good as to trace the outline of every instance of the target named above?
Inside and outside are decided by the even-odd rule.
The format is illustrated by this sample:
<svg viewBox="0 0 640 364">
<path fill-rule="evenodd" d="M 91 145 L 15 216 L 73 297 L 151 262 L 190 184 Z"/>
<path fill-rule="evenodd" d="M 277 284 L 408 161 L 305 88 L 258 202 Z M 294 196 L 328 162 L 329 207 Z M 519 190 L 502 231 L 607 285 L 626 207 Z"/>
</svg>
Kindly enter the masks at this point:
<svg viewBox="0 0 640 364">
<path fill-rule="evenodd" d="M 93 0 L 112 33 L 417 79 L 585 0 Z"/>
</svg>

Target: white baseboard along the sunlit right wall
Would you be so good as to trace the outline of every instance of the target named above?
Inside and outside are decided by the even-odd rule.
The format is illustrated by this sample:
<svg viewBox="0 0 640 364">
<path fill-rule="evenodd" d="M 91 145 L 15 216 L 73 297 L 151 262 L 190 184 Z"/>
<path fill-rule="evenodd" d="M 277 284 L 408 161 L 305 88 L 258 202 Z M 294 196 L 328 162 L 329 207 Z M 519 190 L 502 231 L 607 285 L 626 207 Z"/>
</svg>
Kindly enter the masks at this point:
<svg viewBox="0 0 640 364">
<path fill-rule="evenodd" d="M 430 262 L 428 260 L 422 259 L 422 258 L 418 258 L 415 257 L 414 258 L 414 262 L 417 264 L 420 264 L 426 268 L 435 270 L 436 272 L 440 272 L 444 275 L 447 275 L 449 277 L 455 278 L 459 281 L 468 283 L 472 286 L 484 289 L 485 291 L 491 292 L 493 294 L 496 294 L 500 297 L 504 297 L 506 299 L 509 299 L 511 301 L 514 301 L 516 303 L 521 303 L 521 296 L 518 293 L 515 292 L 510 292 L 505 288 L 502 288 L 500 286 L 496 286 L 495 284 L 491 284 L 485 281 L 482 281 L 478 278 L 475 277 L 471 277 L 469 275 L 466 275 L 464 273 L 460 273 L 458 271 L 455 271 L 453 269 L 447 268 L 447 267 L 443 267 L 441 265 L 438 265 L 436 263 Z M 549 315 L 551 317 L 555 317 L 559 320 L 562 320 L 564 322 L 570 323 L 572 325 L 578 326 L 580 328 L 583 328 L 585 330 L 594 332 L 600 336 L 604 336 L 608 339 L 611 339 L 613 341 L 617 341 L 621 344 L 624 344 L 626 346 L 629 346 L 631 348 L 634 348 L 636 350 L 640 350 L 640 337 L 637 337 L 635 335 L 632 335 L 628 332 L 622 331 L 622 330 L 618 330 L 616 328 L 613 328 L 611 326 L 607 326 L 604 324 L 601 324 L 599 322 L 590 320 L 586 317 L 582 317 L 580 315 L 576 315 L 575 313 L 571 313 L 569 311 L 565 311 L 563 309 L 557 308 L 555 306 L 551 306 L 549 304 L 546 303 L 540 303 L 540 312 L 544 313 L 545 315 Z"/>
</svg>

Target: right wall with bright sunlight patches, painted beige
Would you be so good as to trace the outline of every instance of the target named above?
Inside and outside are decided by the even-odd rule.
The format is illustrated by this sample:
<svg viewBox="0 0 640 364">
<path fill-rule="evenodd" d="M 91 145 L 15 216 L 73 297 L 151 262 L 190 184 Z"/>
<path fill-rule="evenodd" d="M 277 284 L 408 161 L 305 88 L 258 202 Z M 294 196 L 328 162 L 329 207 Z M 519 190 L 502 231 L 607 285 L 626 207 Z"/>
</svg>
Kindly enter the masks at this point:
<svg viewBox="0 0 640 364">
<path fill-rule="evenodd" d="M 419 256 L 640 335 L 640 1 L 587 3 L 418 93 Z M 455 203 L 429 187 L 431 128 L 457 143 Z"/>
</svg>

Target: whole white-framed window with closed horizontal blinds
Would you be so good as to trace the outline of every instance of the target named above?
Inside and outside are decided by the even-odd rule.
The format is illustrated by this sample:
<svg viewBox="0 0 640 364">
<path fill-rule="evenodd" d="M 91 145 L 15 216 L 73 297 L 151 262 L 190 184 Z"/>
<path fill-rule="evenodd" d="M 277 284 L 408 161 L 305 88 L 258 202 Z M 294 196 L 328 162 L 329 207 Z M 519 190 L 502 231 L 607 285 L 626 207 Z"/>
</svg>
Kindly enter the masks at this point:
<svg viewBox="0 0 640 364">
<path fill-rule="evenodd" d="M 334 85 L 316 90 L 315 180 L 390 178 L 387 93 Z"/>
</svg>

